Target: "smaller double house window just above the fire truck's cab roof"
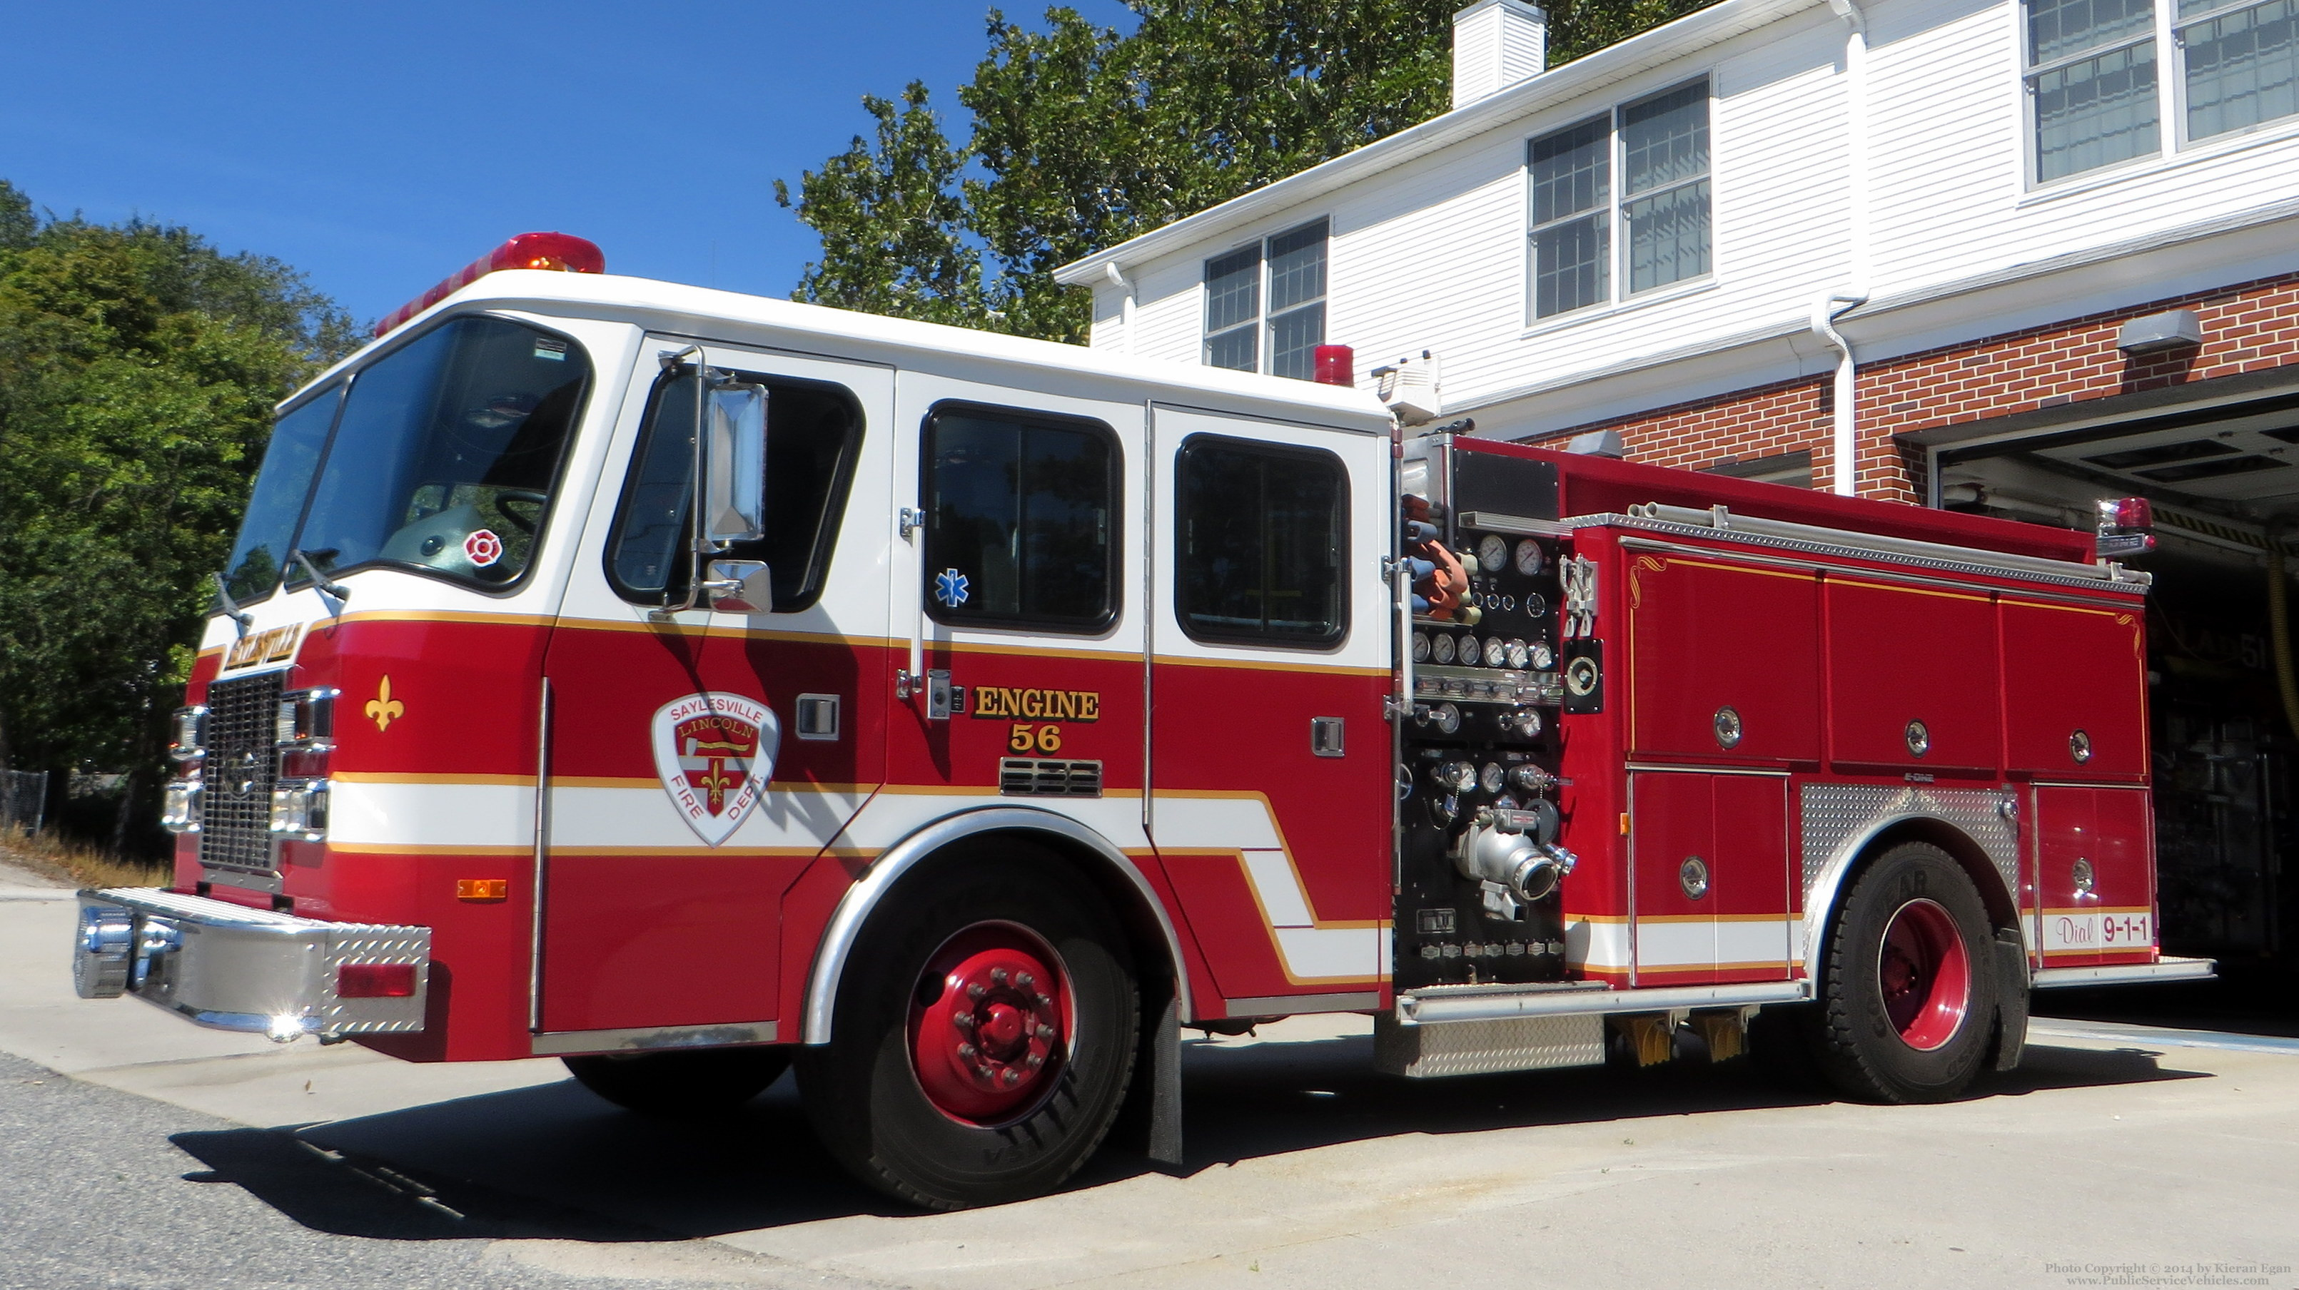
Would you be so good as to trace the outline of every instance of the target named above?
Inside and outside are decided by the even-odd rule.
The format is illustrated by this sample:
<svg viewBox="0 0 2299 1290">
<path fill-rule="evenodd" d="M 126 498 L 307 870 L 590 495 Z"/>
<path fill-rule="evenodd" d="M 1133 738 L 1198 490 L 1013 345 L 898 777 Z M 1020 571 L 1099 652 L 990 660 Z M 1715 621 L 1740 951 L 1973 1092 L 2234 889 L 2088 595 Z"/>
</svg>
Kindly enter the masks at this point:
<svg viewBox="0 0 2299 1290">
<path fill-rule="evenodd" d="M 1304 382 L 1317 375 L 1327 232 L 1320 218 L 1205 262 L 1207 366 Z"/>
</svg>

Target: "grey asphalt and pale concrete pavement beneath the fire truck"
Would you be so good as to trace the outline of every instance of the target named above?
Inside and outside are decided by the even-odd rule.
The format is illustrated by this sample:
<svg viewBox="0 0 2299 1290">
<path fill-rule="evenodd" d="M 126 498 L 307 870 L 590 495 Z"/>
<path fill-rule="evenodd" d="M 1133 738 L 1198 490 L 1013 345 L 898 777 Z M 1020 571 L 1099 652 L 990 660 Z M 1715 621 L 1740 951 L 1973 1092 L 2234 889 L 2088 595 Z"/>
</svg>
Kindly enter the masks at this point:
<svg viewBox="0 0 2299 1290">
<path fill-rule="evenodd" d="M 202 1032 L 74 998 L 69 927 L 0 874 L 11 1290 L 2299 1285 L 2292 1039 L 2037 1021 L 1970 1099 L 1858 1106 L 1745 1060 L 1398 1081 L 1297 1019 L 1184 1044 L 1182 1170 L 910 1214 L 789 1081 L 676 1124 L 552 1062 Z"/>
</svg>

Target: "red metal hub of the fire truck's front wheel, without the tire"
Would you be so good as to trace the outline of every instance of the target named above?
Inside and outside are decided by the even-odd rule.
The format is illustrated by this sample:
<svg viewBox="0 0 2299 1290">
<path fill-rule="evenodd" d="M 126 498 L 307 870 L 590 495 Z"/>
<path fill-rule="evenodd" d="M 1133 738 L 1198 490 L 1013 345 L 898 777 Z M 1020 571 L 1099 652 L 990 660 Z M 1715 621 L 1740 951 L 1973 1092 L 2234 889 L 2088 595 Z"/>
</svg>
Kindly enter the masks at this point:
<svg viewBox="0 0 2299 1290">
<path fill-rule="evenodd" d="M 1002 1124 L 1046 1097 L 1069 1053 L 1060 963 L 1009 922 L 968 927 L 926 959 L 910 1000 L 910 1069 L 943 1115 Z"/>
</svg>

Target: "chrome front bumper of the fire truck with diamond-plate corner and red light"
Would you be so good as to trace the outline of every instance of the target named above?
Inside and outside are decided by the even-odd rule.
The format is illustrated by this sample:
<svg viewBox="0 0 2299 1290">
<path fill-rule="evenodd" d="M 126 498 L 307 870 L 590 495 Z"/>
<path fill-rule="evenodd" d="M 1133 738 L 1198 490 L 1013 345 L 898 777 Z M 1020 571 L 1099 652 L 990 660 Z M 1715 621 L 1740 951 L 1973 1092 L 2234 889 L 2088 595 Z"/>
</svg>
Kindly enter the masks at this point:
<svg viewBox="0 0 2299 1290">
<path fill-rule="evenodd" d="M 80 998 L 133 993 L 280 1044 L 407 1035 L 423 1030 L 430 927 L 322 922 L 159 888 L 87 890 L 71 980 Z"/>
</svg>

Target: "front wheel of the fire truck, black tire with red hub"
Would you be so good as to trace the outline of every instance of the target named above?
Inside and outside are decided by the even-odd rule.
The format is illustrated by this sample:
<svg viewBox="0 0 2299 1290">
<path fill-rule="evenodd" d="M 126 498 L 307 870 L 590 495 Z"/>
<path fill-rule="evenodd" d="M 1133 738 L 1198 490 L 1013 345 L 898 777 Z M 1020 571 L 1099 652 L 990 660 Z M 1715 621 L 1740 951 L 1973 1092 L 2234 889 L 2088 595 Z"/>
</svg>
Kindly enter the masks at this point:
<svg viewBox="0 0 2299 1290">
<path fill-rule="evenodd" d="M 798 1055 L 798 1090 L 830 1154 L 887 1196 L 1021 1200 L 1110 1131 L 1138 1007 L 1099 892 L 1037 849 L 970 849 L 871 915 L 832 1042 Z"/>
</svg>

